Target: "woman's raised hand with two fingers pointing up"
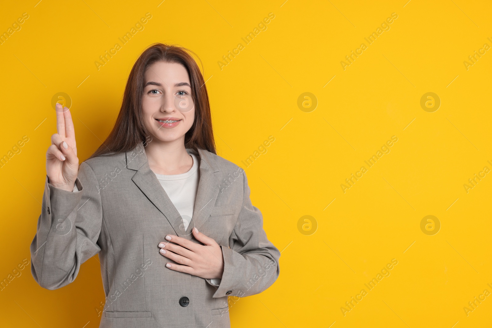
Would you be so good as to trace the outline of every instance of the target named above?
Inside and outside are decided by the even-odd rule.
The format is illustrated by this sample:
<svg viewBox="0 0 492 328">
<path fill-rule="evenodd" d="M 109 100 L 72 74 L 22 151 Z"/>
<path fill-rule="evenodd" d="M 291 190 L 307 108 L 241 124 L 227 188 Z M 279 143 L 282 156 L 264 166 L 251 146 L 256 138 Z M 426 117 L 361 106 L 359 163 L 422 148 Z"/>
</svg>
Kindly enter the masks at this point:
<svg viewBox="0 0 492 328">
<path fill-rule="evenodd" d="M 52 145 L 46 151 L 46 174 L 54 187 L 73 191 L 79 171 L 79 159 L 72 115 L 61 104 L 56 105 L 56 112 L 58 133 L 51 136 Z"/>
</svg>

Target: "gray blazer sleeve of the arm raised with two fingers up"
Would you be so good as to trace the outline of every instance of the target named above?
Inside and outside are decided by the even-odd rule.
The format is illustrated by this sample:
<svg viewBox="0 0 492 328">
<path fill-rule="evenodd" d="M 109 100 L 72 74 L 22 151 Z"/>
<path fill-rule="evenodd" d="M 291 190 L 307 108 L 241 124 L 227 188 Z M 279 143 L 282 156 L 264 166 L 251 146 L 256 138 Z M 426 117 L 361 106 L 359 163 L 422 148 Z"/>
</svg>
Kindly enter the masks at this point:
<svg viewBox="0 0 492 328">
<path fill-rule="evenodd" d="M 41 215 L 31 243 L 31 273 L 43 288 L 58 289 L 75 280 L 82 263 L 101 249 L 102 206 L 97 178 L 82 162 L 79 191 L 54 187 L 46 177 Z"/>
</svg>

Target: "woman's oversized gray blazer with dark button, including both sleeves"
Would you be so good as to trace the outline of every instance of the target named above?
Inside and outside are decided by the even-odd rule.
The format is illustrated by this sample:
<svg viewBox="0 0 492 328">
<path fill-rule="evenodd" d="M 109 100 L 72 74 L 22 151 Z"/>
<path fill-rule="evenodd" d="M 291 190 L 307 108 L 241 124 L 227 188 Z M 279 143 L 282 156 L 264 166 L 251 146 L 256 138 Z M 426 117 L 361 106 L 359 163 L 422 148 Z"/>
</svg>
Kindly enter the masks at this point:
<svg viewBox="0 0 492 328">
<path fill-rule="evenodd" d="M 42 212 L 31 243 L 31 272 L 42 287 L 71 283 L 80 265 L 99 254 L 106 303 L 99 328 L 230 327 L 228 296 L 270 287 L 280 252 L 267 239 L 261 212 L 251 204 L 244 171 L 207 150 L 193 217 L 181 215 L 149 167 L 143 145 L 80 165 L 68 192 L 46 178 Z M 158 243 L 173 234 L 198 243 L 196 227 L 223 253 L 219 285 L 165 267 Z"/>
</svg>

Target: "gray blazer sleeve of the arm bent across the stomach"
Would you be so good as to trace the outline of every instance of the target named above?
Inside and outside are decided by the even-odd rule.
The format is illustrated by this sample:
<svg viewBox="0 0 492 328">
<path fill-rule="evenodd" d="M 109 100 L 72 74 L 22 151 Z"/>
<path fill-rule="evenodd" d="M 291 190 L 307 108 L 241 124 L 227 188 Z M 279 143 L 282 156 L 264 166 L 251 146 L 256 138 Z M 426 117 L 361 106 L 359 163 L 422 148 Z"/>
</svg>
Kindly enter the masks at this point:
<svg viewBox="0 0 492 328">
<path fill-rule="evenodd" d="M 244 170 L 243 178 L 243 205 L 229 238 L 230 247 L 220 246 L 224 272 L 214 298 L 245 297 L 261 293 L 277 280 L 280 273 L 280 252 L 267 239 L 260 210 L 251 204 Z"/>
</svg>

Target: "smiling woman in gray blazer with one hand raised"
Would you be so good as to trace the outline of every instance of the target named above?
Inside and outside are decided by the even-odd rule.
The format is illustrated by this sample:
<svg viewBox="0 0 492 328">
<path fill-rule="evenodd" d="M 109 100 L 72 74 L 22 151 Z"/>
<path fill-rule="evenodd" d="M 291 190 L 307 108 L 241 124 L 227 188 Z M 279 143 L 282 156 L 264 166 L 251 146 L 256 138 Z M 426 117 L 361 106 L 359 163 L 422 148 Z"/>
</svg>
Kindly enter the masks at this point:
<svg viewBox="0 0 492 328">
<path fill-rule="evenodd" d="M 104 327 L 230 327 L 228 296 L 258 294 L 280 252 L 244 171 L 215 154 L 203 76 L 154 44 L 134 64 L 116 124 L 79 168 L 68 108 L 46 153 L 31 272 L 61 288 L 99 254 Z"/>
</svg>

